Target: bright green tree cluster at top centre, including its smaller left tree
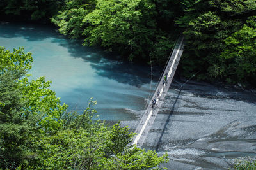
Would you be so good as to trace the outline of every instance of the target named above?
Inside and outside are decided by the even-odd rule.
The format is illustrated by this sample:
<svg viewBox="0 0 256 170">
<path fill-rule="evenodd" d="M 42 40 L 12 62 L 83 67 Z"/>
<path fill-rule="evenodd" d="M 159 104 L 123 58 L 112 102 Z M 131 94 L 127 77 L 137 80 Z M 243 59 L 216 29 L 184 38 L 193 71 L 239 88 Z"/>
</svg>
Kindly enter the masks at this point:
<svg viewBox="0 0 256 170">
<path fill-rule="evenodd" d="M 150 1 L 88 1 L 74 5 L 52 18 L 60 32 L 73 38 L 85 37 L 84 45 L 100 45 L 132 60 L 147 57 L 156 34 L 155 6 Z"/>
</svg>

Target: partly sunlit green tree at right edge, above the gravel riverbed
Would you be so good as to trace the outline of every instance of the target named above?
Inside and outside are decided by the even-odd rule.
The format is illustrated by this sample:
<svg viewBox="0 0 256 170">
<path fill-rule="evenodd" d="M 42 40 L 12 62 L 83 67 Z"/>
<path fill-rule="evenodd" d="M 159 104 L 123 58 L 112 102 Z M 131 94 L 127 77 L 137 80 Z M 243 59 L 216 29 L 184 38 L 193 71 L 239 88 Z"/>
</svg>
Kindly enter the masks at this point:
<svg viewBox="0 0 256 170">
<path fill-rule="evenodd" d="M 225 39 L 225 50 L 220 57 L 227 66 L 223 72 L 228 77 L 227 81 L 256 83 L 255 20 L 256 16 L 249 17 L 242 29 Z"/>
</svg>

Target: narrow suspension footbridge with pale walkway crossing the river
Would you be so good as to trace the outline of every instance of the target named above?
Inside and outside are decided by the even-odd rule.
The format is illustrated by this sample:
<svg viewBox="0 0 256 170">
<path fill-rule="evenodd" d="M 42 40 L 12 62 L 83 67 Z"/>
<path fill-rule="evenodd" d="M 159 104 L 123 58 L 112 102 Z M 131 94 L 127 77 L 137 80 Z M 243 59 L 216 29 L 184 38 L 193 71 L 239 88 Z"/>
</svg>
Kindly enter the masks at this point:
<svg viewBox="0 0 256 170">
<path fill-rule="evenodd" d="M 180 57 L 183 52 L 183 48 L 184 48 L 184 37 L 180 38 L 179 41 L 177 41 L 175 48 L 173 49 L 172 55 L 170 56 L 170 59 L 168 60 L 168 64 L 166 65 L 164 72 L 161 75 L 161 79 L 157 84 L 157 88 L 155 89 L 152 99 L 151 101 L 149 101 L 147 109 L 145 110 L 145 113 L 141 118 L 140 123 L 138 124 L 138 127 L 135 130 L 135 133 L 137 133 L 138 135 L 135 137 L 132 143 L 133 145 L 137 145 L 137 146 L 143 145 L 145 138 L 147 137 L 147 134 L 154 123 L 154 120 L 157 116 L 159 108 L 161 108 L 161 105 L 164 101 L 166 93 L 170 88 L 170 85 L 173 80 L 173 76 L 175 74 L 175 71 L 179 64 Z M 164 76 L 166 76 L 166 81 Z M 152 107 L 153 99 L 156 99 L 156 104 L 154 104 L 154 107 Z"/>
</svg>

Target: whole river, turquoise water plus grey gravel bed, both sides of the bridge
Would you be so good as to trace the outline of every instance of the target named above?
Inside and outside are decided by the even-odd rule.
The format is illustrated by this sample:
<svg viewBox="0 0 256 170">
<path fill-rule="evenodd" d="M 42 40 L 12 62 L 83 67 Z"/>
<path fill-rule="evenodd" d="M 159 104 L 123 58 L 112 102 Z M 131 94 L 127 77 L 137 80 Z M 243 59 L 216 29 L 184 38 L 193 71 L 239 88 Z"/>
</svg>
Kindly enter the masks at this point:
<svg viewBox="0 0 256 170">
<path fill-rule="evenodd" d="M 95 97 L 100 119 L 135 129 L 150 91 L 150 68 L 81 43 L 45 25 L 0 25 L 0 46 L 32 52 L 29 73 L 52 80 L 69 110 L 81 112 Z M 185 82 L 173 81 L 143 147 L 167 152 L 168 169 L 228 169 L 236 157 L 256 157 L 255 90 L 194 80 L 179 90 Z"/>
</svg>

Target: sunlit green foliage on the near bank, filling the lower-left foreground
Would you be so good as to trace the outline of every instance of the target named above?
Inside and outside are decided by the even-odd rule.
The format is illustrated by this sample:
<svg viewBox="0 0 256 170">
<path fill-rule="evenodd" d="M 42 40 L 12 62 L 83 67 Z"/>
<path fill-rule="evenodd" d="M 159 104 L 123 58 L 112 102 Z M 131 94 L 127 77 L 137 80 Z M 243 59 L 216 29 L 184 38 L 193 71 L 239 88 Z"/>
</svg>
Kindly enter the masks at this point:
<svg viewBox="0 0 256 170">
<path fill-rule="evenodd" d="M 0 48 L 0 169 L 148 169 L 167 161 L 131 145 L 133 133 L 109 127 L 88 103 L 67 113 L 50 81 L 28 80 L 33 58 Z"/>
</svg>

